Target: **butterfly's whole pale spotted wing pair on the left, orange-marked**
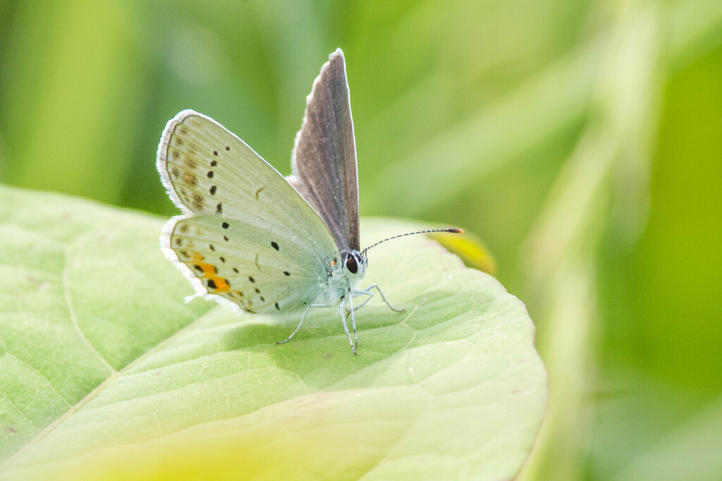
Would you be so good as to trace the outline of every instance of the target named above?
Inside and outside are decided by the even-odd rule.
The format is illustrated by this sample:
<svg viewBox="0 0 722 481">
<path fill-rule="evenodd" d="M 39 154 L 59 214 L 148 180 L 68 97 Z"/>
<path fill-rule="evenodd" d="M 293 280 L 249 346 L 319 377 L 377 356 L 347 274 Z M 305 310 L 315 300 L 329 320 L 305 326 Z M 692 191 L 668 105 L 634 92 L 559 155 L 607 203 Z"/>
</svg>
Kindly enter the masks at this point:
<svg viewBox="0 0 722 481">
<path fill-rule="evenodd" d="M 323 220 L 268 162 L 216 121 L 183 110 L 157 153 L 163 185 L 183 215 L 165 225 L 168 259 L 196 293 L 247 311 L 315 300 L 338 255 Z"/>
</svg>

